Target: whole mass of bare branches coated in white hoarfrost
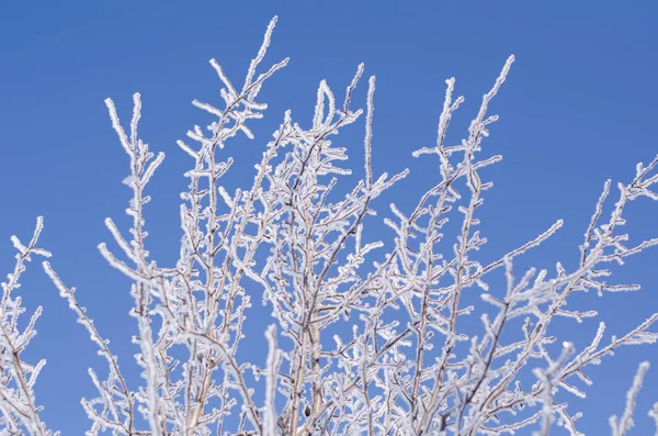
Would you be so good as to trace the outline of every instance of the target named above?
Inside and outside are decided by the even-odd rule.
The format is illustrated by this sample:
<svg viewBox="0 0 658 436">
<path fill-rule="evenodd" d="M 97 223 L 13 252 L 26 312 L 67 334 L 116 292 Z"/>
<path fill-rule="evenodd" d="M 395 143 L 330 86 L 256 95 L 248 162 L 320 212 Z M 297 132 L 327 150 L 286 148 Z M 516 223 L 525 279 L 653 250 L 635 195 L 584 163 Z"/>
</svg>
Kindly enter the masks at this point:
<svg viewBox="0 0 658 436">
<path fill-rule="evenodd" d="M 407 171 L 375 176 L 371 166 L 374 77 L 368 80 L 365 113 L 352 109 L 363 65 L 348 86 L 342 102 L 322 81 L 315 113 L 305 128 L 288 111 L 256 165 L 251 187 L 228 192 L 222 178 L 232 160 L 223 150 L 236 135 L 253 135 L 252 119 L 263 116 L 258 101 L 263 83 L 287 64 L 284 59 L 258 72 L 275 20 L 252 60 L 243 85 L 236 87 L 215 60 L 223 83 L 223 105 L 194 101 L 216 118 L 206 128 L 188 132 L 192 143 L 179 146 L 193 159 L 185 174 L 189 189 L 181 194 L 182 239 L 175 266 L 163 268 L 149 258 L 145 206 L 146 187 L 163 155 L 155 155 L 137 134 L 139 94 L 126 132 L 112 100 L 112 125 L 129 157 L 124 180 L 133 191 L 126 210 L 133 219 L 129 237 L 105 221 L 116 248 L 99 246 L 105 259 L 132 281 L 137 324 L 134 343 L 143 385 L 131 388 L 117 357 L 48 262 L 46 272 L 78 321 L 98 344 L 107 362 L 103 374 L 90 369 L 98 396 L 83 400 L 91 420 L 89 436 L 113 435 L 503 435 L 536 431 L 547 435 L 554 423 L 571 435 L 579 413 L 556 395 L 564 391 L 583 398 L 591 384 L 588 365 L 597 365 L 623 345 L 654 344 L 650 328 L 658 314 L 635 328 L 603 339 L 604 323 L 583 349 L 566 342 L 555 347 L 549 334 L 556 317 L 577 323 L 595 317 L 593 310 L 567 309 L 577 292 L 636 291 L 635 284 L 611 284 L 610 262 L 658 244 L 628 245 L 623 212 L 639 197 L 658 200 L 658 157 L 638 164 L 627 185 L 617 185 L 616 202 L 604 217 L 611 182 L 603 187 L 580 245 L 578 266 L 555 271 L 531 268 L 515 273 L 519 256 L 538 246 L 561 226 L 557 221 L 534 239 L 481 264 L 477 250 L 487 239 L 477 230 L 478 208 L 492 187 L 480 169 L 501 160 L 481 157 L 483 139 L 497 116 L 488 114 L 491 99 L 513 62 L 506 63 L 460 144 L 446 144 L 452 115 L 464 101 L 454 97 L 455 80 L 446 81 L 438 139 L 415 156 L 430 155 L 439 164 L 434 186 L 418 198 L 415 209 L 390 204 L 386 219 L 394 239 L 365 242 L 364 220 L 375 215 L 372 201 Z M 363 178 L 348 193 L 336 189 L 350 170 L 341 166 L 345 148 L 332 143 L 340 130 L 365 119 Z M 450 220 L 461 223 L 453 243 L 444 235 Z M 373 220 L 373 219 L 370 219 Z M 12 297 L 29 246 L 14 238 L 16 267 L 3 283 L 0 305 L 2 434 L 49 435 L 39 421 L 33 385 L 43 361 L 31 366 L 20 351 L 34 335 L 33 315 L 23 332 L 16 318 L 23 311 Z M 372 251 L 372 253 L 371 253 Z M 366 262 L 366 259 L 368 260 Z M 507 286 L 491 284 L 500 270 Z M 481 298 L 483 308 L 463 303 L 466 293 Z M 266 361 L 240 361 L 251 300 L 262 299 L 273 324 L 266 329 Z M 480 312 L 479 334 L 473 315 Z M 341 325 L 352 322 L 351 335 Z M 337 328 L 337 326 L 339 328 Z M 518 335 L 510 335 L 514 329 Z M 514 340 L 508 336 L 518 337 Z M 611 417 L 614 435 L 633 425 L 635 398 L 648 364 L 639 366 L 621 417 Z M 561 398 L 561 396 L 560 396 Z M 649 415 L 658 423 L 658 403 Z"/>
</svg>

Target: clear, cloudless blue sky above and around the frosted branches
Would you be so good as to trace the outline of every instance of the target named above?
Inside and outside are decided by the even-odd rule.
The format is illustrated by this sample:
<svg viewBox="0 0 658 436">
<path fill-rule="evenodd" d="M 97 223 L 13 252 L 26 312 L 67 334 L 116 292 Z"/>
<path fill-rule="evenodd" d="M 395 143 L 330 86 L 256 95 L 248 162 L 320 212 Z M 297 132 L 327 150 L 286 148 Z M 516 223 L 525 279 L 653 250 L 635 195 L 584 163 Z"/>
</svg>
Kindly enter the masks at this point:
<svg viewBox="0 0 658 436">
<path fill-rule="evenodd" d="M 421 193 L 419 187 L 438 177 L 433 163 L 418 161 L 410 153 L 434 141 L 444 80 L 455 76 L 456 92 L 466 97 L 452 123 L 457 139 L 483 92 L 514 53 L 517 62 L 491 108 L 501 120 L 485 142 L 504 160 L 486 175 L 496 185 L 480 216 L 491 241 L 483 256 L 503 254 L 563 217 L 564 228 L 526 259 L 548 268 L 558 259 L 574 265 L 603 181 L 628 180 L 637 161 L 648 161 L 658 152 L 657 13 L 658 3 L 649 1 L 4 1 L 0 265 L 5 272 L 13 265 L 9 236 L 27 238 L 35 217 L 44 215 L 42 246 L 54 253 L 53 265 L 79 289 L 79 299 L 136 381 L 135 349 L 128 344 L 135 332 L 127 316 L 128 283 L 95 248 L 110 239 L 105 216 L 124 228 L 128 223 L 123 210 L 129 190 L 121 185 L 126 156 L 103 99 L 112 97 L 127 120 L 131 96 L 141 92 L 141 137 L 151 149 L 167 153 L 151 182 L 147 224 L 155 257 L 160 265 L 172 265 L 180 237 L 179 192 L 185 187 L 182 172 L 190 165 L 175 139 L 207 120 L 190 101 L 219 100 L 219 82 L 207 64 L 212 57 L 229 77 L 241 80 L 274 14 L 280 21 L 268 59 L 290 56 L 292 62 L 263 89 L 261 100 L 270 108 L 254 126 L 257 139 L 237 141 L 227 149 L 236 158 L 229 188 L 249 180 L 248 171 L 284 110 L 309 120 L 318 82 L 327 79 L 342 94 L 363 62 L 366 74 L 377 76 L 375 172 L 412 169 L 375 208 L 386 213 L 395 201 L 408 210 L 409 199 Z M 364 89 L 359 104 L 364 104 Z M 361 131 L 351 132 L 345 138 L 360 156 Z M 657 236 L 657 213 L 658 204 L 647 200 L 631 204 L 626 216 L 632 238 Z M 378 224 L 373 227 L 382 228 L 382 238 L 392 238 Z M 609 333 L 622 334 L 658 310 L 653 276 L 657 259 L 658 251 L 647 251 L 615 271 L 620 282 L 643 284 L 639 293 L 587 295 Z M 26 353 L 48 360 L 37 402 L 46 407 L 50 427 L 82 434 L 87 421 L 79 399 L 94 394 L 87 368 L 104 371 L 102 360 L 36 264 L 23 287 L 29 308 L 45 306 L 38 336 Z M 591 337 L 595 322 L 576 327 L 569 332 L 578 344 Z M 258 329 L 252 334 L 260 340 Z M 590 398 L 571 401 L 585 412 L 581 429 L 609 433 L 608 416 L 622 412 L 637 364 L 649 359 L 655 367 L 632 433 L 648 434 L 646 412 L 658 400 L 650 394 L 658 392 L 657 356 L 657 347 L 622 349 L 602 367 L 591 368 L 595 384 L 588 390 Z"/>
</svg>

